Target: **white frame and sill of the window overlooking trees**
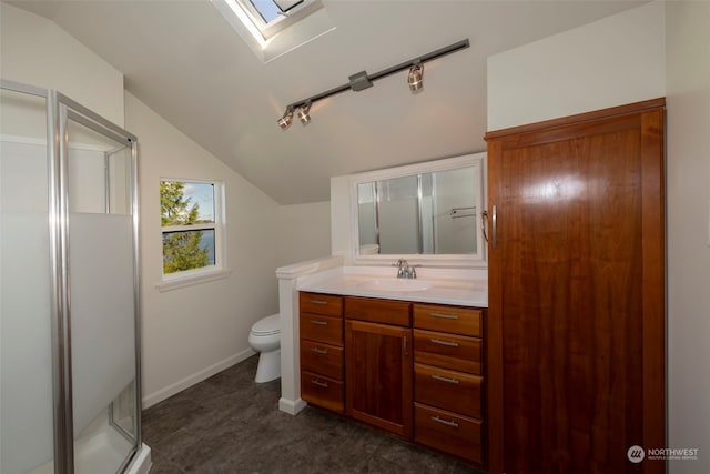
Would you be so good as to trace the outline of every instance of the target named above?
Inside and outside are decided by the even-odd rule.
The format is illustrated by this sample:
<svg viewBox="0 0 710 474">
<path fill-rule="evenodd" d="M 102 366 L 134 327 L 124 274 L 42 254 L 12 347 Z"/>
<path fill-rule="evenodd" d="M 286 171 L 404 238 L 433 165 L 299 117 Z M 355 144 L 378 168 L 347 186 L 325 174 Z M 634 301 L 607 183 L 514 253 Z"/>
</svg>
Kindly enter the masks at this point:
<svg viewBox="0 0 710 474">
<path fill-rule="evenodd" d="M 175 290 L 207 281 L 227 278 L 232 272 L 226 264 L 226 219 L 225 219 L 225 190 L 224 183 L 219 180 L 204 180 L 192 178 L 165 178 L 161 177 L 159 184 L 163 182 L 182 182 L 185 184 L 211 184 L 213 186 L 213 211 L 214 222 L 189 224 L 189 225 L 162 225 L 160 226 L 160 273 L 161 281 L 156 284 L 163 291 Z M 160 186 L 159 186 L 160 188 Z M 159 190 L 160 198 L 160 190 Z M 161 212 L 162 215 L 162 212 Z M 214 232 L 214 264 L 201 266 L 199 269 L 183 270 L 173 273 L 164 273 L 163 268 L 163 236 L 172 232 L 193 232 L 212 230 Z"/>
</svg>

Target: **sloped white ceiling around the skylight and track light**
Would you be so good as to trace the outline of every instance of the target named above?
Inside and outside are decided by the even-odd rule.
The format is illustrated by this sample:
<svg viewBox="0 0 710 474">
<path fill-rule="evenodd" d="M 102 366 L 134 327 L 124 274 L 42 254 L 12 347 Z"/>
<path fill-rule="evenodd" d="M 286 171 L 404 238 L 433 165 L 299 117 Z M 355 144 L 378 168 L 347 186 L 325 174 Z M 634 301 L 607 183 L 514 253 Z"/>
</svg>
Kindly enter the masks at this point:
<svg viewBox="0 0 710 474">
<path fill-rule="evenodd" d="M 125 88 L 281 204 L 327 201 L 329 178 L 485 150 L 486 58 L 638 6 L 625 0 L 323 0 L 335 30 L 263 63 L 209 0 L 20 0 L 121 71 Z M 406 72 L 285 105 L 468 38 Z M 128 127 L 130 129 L 130 123 Z M 140 133 L 139 133 L 140 140 Z M 215 177 L 219 178 L 219 177 Z"/>
</svg>

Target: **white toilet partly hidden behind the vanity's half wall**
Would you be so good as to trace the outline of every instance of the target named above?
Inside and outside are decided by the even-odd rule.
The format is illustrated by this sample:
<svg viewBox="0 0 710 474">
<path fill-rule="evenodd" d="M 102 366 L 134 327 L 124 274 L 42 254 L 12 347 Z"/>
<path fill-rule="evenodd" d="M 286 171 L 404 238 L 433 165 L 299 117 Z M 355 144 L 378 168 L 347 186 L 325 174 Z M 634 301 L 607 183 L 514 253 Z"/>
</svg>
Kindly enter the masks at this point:
<svg viewBox="0 0 710 474">
<path fill-rule="evenodd" d="M 260 352 L 256 383 L 271 382 L 281 376 L 281 323 L 278 314 L 254 323 L 248 333 L 248 344 Z"/>
</svg>

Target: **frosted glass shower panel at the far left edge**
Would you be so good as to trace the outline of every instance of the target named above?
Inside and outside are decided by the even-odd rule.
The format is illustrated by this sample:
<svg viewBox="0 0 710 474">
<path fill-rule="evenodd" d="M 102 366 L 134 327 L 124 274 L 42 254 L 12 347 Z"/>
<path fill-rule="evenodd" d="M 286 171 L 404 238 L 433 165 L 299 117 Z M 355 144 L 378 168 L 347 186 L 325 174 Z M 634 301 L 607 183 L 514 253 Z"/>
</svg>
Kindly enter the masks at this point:
<svg viewBox="0 0 710 474">
<path fill-rule="evenodd" d="M 0 89 L 2 474 L 54 457 L 47 129 L 43 91 Z"/>
</svg>

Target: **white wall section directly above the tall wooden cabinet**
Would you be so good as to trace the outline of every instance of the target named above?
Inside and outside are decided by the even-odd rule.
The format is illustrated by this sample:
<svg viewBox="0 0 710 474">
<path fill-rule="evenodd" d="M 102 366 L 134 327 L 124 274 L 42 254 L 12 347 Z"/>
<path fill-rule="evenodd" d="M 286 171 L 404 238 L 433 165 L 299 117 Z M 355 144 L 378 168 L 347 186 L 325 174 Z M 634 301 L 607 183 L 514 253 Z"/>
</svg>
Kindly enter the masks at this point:
<svg viewBox="0 0 710 474">
<path fill-rule="evenodd" d="M 663 6 L 646 6 L 488 58 L 488 130 L 666 93 Z"/>
</svg>

